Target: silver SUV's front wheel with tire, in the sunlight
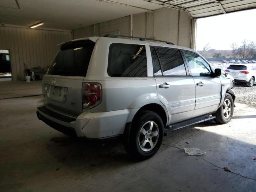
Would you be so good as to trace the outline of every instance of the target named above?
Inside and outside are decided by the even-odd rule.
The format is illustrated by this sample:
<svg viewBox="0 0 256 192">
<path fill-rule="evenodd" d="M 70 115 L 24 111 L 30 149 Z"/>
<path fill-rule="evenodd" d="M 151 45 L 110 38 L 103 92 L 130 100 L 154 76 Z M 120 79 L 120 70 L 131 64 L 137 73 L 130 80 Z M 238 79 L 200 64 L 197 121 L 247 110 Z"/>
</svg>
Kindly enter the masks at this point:
<svg viewBox="0 0 256 192">
<path fill-rule="evenodd" d="M 229 110 L 230 109 L 230 110 Z M 226 93 L 225 98 L 224 98 L 224 103 L 216 113 L 212 114 L 213 116 L 216 116 L 214 119 L 216 122 L 220 124 L 226 124 L 230 122 L 232 116 L 234 113 L 234 101 L 233 98 L 230 94 Z"/>
</svg>

